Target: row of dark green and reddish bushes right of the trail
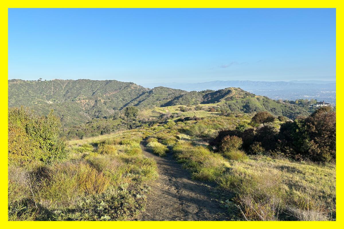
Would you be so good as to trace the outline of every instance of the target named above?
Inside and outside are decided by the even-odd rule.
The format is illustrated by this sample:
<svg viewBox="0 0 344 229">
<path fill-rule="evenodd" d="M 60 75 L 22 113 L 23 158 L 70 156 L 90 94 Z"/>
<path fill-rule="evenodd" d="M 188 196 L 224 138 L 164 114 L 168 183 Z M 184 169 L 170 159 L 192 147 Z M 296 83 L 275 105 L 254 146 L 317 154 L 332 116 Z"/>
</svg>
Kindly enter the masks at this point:
<svg viewBox="0 0 344 229">
<path fill-rule="evenodd" d="M 239 125 L 235 130 L 220 131 L 210 144 L 221 150 L 223 139 L 236 136 L 242 140 L 240 149 L 251 154 L 282 154 L 295 160 L 317 162 L 335 160 L 336 114 L 331 107 L 321 107 L 294 122 L 287 121 L 280 129 L 269 124 L 273 120 L 275 117 L 268 112 L 258 112 L 252 122 L 263 126 Z"/>
</svg>

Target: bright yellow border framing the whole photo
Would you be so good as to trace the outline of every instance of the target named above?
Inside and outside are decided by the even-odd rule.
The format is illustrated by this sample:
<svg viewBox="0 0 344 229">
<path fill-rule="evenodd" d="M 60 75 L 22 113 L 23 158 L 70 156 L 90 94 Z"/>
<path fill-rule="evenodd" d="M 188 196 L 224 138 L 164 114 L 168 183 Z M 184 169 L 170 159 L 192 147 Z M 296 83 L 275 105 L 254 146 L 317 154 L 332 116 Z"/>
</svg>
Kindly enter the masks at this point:
<svg viewBox="0 0 344 229">
<path fill-rule="evenodd" d="M 0 120 L 1 120 L 1 209 L 0 209 L 0 219 L 1 224 L 4 228 L 39 228 L 39 227 L 49 227 L 49 228 L 70 228 L 70 227 L 83 227 L 83 228 L 94 228 L 94 227 L 125 227 L 125 228 L 173 228 L 175 227 L 197 227 L 197 228 L 209 228 L 209 227 L 252 227 L 252 228 L 324 228 L 324 227 L 340 227 L 342 224 L 342 180 L 341 175 L 343 175 L 342 163 L 343 163 L 343 128 L 344 124 L 341 119 L 337 120 L 337 213 L 335 222 L 8 222 L 7 221 L 7 111 L 8 111 L 8 8 L 336 8 L 336 40 L 342 41 L 342 15 L 341 15 L 341 4 L 339 1 L 295 1 L 290 0 L 288 2 L 280 1 L 157 1 L 157 0 L 146 0 L 146 1 L 66 1 L 60 0 L 58 2 L 50 1 L 16 1 L 16 2 L 6 2 L 1 3 L 0 8 L 0 29 L 1 29 L 1 69 L 3 72 L 3 77 L 1 79 L 1 98 L 2 106 L 0 107 Z M 341 50 L 341 42 L 337 42 L 337 50 Z M 337 52 L 338 53 L 338 52 Z M 341 53 L 341 52 L 339 52 Z M 339 61 L 338 61 L 339 60 Z M 341 55 L 336 55 L 336 62 L 341 62 Z M 341 74 L 341 65 L 337 65 L 336 75 Z M 5 78 L 6 77 L 6 78 Z M 344 85 L 341 77 L 337 78 L 337 111 L 339 114 L 343 114 L 343 95 L 338 88 Z M 338 143 L 339 142 L 339 143 Z"/>
</svg>

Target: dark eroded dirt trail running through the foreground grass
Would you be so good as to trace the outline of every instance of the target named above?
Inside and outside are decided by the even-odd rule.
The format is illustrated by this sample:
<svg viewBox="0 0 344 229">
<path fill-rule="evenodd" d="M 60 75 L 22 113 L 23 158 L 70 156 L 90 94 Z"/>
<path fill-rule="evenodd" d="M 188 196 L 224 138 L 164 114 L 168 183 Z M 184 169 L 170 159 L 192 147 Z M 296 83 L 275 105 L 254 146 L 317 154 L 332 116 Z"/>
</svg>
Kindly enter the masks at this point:
<svg viewBox="0 0 344 229">
<path fill-rule="evenodd" d="M 159 157 L 140 145 L 143 154 L 157 161 L 159 178 L 151 185 L 146 213 L 138 220 L 228 220 L 225 209 L 212 199 L 214 187 L 191 179 L 191 174 L 175 161 L 172 153 Z"/>
</svg>

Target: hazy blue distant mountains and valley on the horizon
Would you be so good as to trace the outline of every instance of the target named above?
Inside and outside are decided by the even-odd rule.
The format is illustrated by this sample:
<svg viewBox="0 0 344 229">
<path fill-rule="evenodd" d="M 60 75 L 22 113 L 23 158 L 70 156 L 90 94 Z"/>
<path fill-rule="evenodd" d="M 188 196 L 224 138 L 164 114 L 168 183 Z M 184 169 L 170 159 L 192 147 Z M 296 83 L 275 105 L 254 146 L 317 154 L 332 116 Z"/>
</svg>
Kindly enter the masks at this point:
<svg viewBox="0 0 344 229">
<path fill-rule="evenodd" d="M 336 82 L 321 80 L 293 81 L 250 81 L 250 80 L 216 80 L 202 83 L 147 83 L 144 87 L 169 87 L 185 91 L 219 90 L 228 87 L 241 88 L 256 95 L 271 99 L 316 99 L 336 103 Z"/>
</svg>

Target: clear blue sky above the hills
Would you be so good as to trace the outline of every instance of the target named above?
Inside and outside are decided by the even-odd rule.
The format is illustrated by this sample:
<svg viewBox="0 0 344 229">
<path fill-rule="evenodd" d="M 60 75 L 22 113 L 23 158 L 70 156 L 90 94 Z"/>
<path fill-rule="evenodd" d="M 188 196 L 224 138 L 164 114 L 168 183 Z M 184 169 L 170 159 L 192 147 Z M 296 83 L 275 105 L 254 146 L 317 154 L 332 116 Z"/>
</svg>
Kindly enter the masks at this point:
<svg viewBox="0 0 344 229">
<path fill-rule="evenodd" d="M 9 9 L 9 79 L 335 80 L 335 9 Z"/>
</svg>

